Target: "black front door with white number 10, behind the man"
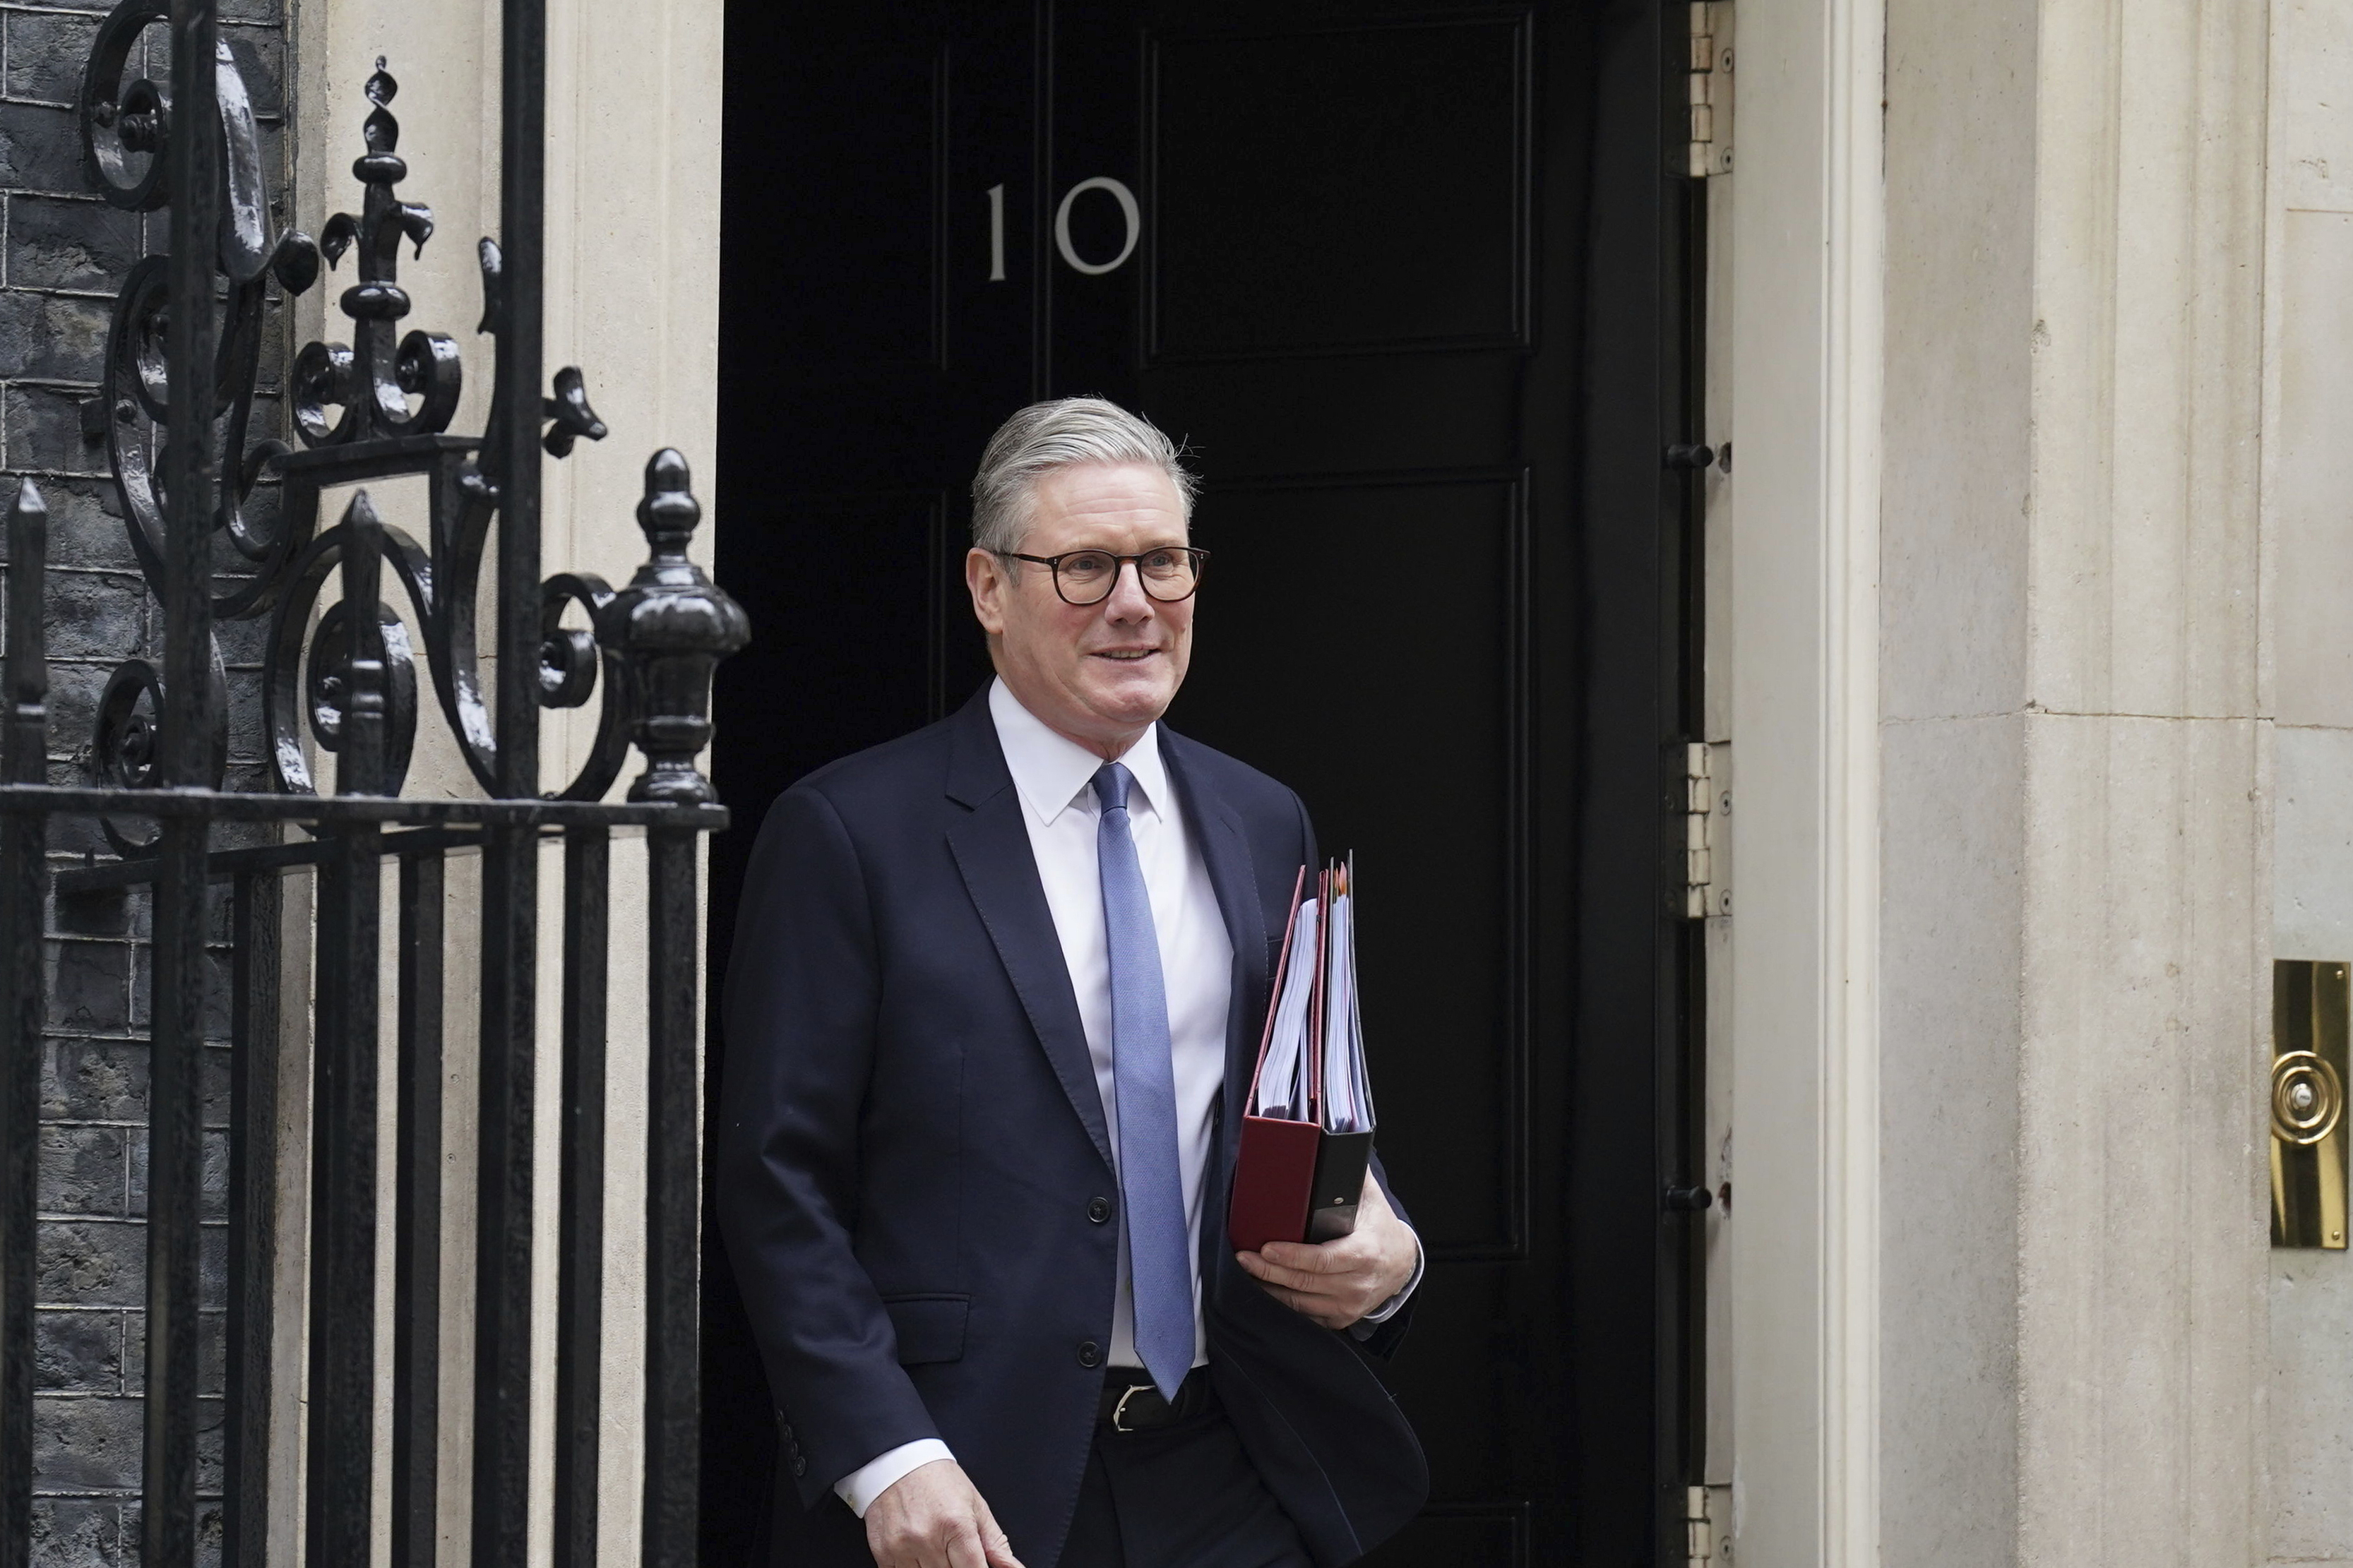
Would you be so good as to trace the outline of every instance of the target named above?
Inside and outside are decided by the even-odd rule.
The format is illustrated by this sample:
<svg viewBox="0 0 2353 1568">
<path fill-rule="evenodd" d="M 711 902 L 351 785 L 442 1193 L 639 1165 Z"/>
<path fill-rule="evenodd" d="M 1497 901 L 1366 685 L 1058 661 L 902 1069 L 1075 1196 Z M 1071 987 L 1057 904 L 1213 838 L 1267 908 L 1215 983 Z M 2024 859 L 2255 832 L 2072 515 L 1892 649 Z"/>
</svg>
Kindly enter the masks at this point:
<svg viewBox="0 0 2353 1568">
<path fill-rule="evenodd" d="M 1099 393 L 1181 437 L 1214 567 L 1169 724 L 1355 851 L 1379 1143 L 1431 1255 L 1391 1387 L 1433 1500 L 1381 1563 L 1682 1554 L 1680 24 L 727 19 L 718 576 L 755 644 L 720 677 L 713 966 L 767 802 L 986 679 L 962 552 L 998 421 Z M 708 1302 L 706 1547 L 734 1568 L 772 1448 L 715 1241 Z"/>
</svg>

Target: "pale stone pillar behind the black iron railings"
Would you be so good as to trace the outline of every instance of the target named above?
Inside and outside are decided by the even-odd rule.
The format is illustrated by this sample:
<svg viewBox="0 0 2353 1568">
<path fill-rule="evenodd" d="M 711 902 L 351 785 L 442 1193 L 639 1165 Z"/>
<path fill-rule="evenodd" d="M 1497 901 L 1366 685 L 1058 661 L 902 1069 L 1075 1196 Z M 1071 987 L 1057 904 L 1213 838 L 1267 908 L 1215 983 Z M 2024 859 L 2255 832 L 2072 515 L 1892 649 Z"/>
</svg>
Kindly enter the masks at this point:
<svg viewBox="0 0 2353 1568">
<path fill-rule="evenodd" d="M 367 113 L 362 82 L 376 63 L 400 80 L 391 103 L 400 120 L 400 155 L 409 165 L 405 200 L 433 207 L 438 233 L 421 259 L 402 256 L 412 294 L 409 327 L 447 331 L 466 362 L 466 395 L 452 430 L 485 423 L 492 343 L 475 336 L 482 313 L 475 240 L 499 228 L 499 7 L 487 0 L 292 0 L 294 5 L 294 181 L 287 221 L 318 233 L 329 212 L 355 209 L 360 188 L 351 160 L 360 153 Z M 546 465 L 544 571 L 595 571 L 614 588 L 645 559 L 635 524 L 642 465 L 659 447 L 678 447 L 694 468 L 706 503 L 696 555 L 708 562 L 715 517 L 718 435 L 718 237 L 720 237 L 720 0 L 548 0 L 548 207 L 546 207 L 546 364 L 579 364 L 588 400 L 612 435 L 581 442 Z M 296 301 L 296 341 L 348 341 L 334 308 L 344 273 Z M 388 522 L 424 536 L 421 482 L 372 484 Z M 329 496 L 325 522 L 341 498 Z M 332 597 L 332 595 L 329 595 Z M 485 583 L 487 614 L 487 583 Z M 487 621 L 485 621 L 487 628 Z M 487 644 L 487 637 L 485 637 Z M 492 661 L 485 661 L 485 684 Z M 544 780 L 569 778 L 595 729 L 595 705 L 551 712 L 541 731 Z M 638 762 L 614 795 L 628 788 Z M 447 741 L 440 710 L 426 703 L 409 795 L 475 795 Z M 386 879 L 393 882 L 391 877 Z M 449 865 L 449 1013 L 445 1025 L 445 1229 L 442 1229 L 442 1561 L 464 1561 L 468 1537 L 468 1465 L 473 1422 L 473 1187 L 478 1048 L 471 957 L 478 945 L 480 879 L 475 863 Z M 386 922 L 391 931 L 391 919 Z M 605 1392 L 602 1392 L 602 1535 L 600 1556 L 614 1568 L 638 1554 L 638 1465 L 642 1415 L 642 1182 L 645 1182 L 645 856 L 621 837 L 612 856 L 609 1058 L 605 1218 Z M 553 1474 L 553 1307 L 558 1192 L 558 1020 L 560 1020 L 562 856 L 541 860 L 536 1215 L 539 1401 L 534 1436 L 534 1561 L 548 1561 L 548 1476 Z M 294 973 L 287 976 L 296 985 Z M 391 1020 L 391 1009 L 386 1009 Z M 306 1084 L 287 1084 L 289 1150 L 308 1147 Z M 391 1100 L 386 1100 L 391 1105 Z M 391 1150 L 391 1143 L 386 1143 Z M 386 1222 L 391 1199 L 386 1187 Z M 299 1300 L 304 1239 L 282 1248 L 289 1291 Z M 388 1253 L 384 1293 L 391 1286 Z M 296 1328 L 294 1316 L 285 1321 Z M 391 1338 L 381 1335 L 388 1371 Z M 299 1368 L 299 1354 L 292 1359 Z M 294 1476 L 299 1373 L 280 1380 L 280 1474 Z M 379 1507 L 384 1474 L 379 1472 Z M 299 1544 L 299 1488 L 280 1486 L 273 1552 L 292 1561 Z"/>
</svg>

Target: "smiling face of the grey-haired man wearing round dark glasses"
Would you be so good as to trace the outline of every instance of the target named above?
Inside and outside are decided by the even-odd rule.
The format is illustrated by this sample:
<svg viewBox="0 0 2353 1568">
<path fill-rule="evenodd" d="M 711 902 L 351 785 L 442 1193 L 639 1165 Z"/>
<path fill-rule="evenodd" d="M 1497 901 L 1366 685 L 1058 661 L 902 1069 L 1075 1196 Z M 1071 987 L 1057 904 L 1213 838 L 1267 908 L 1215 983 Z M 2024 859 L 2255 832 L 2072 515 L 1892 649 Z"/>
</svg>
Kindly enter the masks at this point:
<svg viewBox="0 0 2353 1568">
<path fill-rule="evenodd" d="M 1108 550 L 1139 555 L 1186 543 L 1184 501 L 1158 468 L 1082 463 L 1033 489 L 1024 555 Z M 1167 712 L 1193 656 L 1193 599 L 1162 604 L 1134 567 L 1101 604 L 1066 604 L 1054 571 L 988 550 L 965 557 L 972 611 L 998 675 L 1049 729 L 1115 757 Z"/>
</svg>

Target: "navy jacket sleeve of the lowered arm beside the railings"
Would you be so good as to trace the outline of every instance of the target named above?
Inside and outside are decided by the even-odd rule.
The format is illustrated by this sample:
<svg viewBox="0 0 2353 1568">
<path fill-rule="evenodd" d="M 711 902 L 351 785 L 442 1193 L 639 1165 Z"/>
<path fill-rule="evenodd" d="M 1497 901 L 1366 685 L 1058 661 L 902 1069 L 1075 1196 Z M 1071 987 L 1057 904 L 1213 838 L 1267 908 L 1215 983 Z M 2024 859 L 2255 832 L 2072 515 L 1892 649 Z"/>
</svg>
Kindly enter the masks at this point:
<svg viewBox="0 0 2353 1568">
<path fill-rule="evenodd" d="M 718 1211 L 802 1505 L 939 1436 L 852 1232 L 880 954 L 856 846 L 816 790 L 760 827 L 727 964 Z"/>
</svg>

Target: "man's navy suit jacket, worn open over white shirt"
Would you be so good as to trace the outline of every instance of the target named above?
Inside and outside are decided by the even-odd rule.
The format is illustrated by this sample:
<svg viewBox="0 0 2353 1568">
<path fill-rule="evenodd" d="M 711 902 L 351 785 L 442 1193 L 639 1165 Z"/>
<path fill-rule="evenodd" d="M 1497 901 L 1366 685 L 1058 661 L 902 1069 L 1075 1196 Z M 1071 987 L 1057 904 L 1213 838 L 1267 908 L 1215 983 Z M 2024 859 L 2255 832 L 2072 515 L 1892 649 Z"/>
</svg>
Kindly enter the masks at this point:
<svg viewBox="0 0 2353 1568">
<path fill-rule="evenodd" d="M 1224 1237 L 1240 1086 L 1315 839 L 1273 778 L 1167 729 L 1160 748 L 1233 940 L 1202 1220 L 1209 1375 L 1315 1561 L 1346 1563 L 1428 1490 L 1421 1446 L 1367 1363 L 1395 1347 L 1409 1307 L 1365 1342 L 1318 1328 Z M 1120 1227 L 1087 1208 L 1115 1199 L 1118 1178 L 986 691 L 776 799 L 744 884 L 725 1025 L 718 1211 L 776 1406 L 776 1566 L 871 1563 L 833 1483 L 939 1436 L 1014 1554 L 1049 1568 L 1111 1345 Z"/>
</svg>

